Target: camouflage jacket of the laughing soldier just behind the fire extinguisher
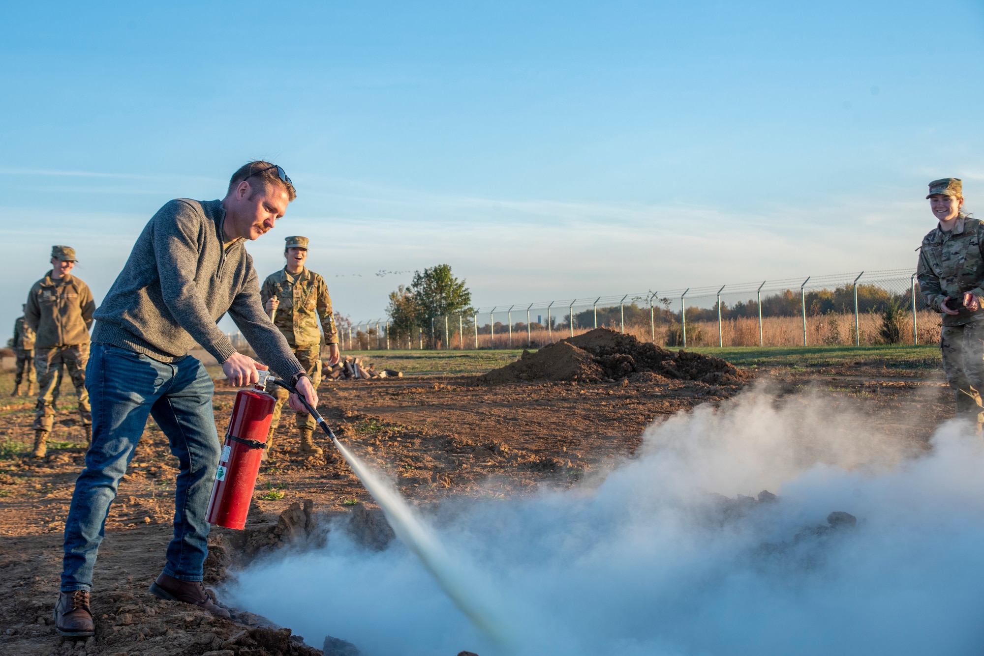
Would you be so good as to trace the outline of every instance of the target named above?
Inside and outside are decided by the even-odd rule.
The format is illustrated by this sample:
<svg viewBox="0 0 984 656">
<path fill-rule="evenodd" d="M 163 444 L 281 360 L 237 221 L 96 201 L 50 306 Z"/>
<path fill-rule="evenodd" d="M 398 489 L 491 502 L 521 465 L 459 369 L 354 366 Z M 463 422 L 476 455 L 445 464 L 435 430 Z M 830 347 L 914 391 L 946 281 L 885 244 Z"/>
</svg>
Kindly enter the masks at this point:
<svg viewBox="0 0 984 656">
<path fill-rule="evenodd" d="M 284 267 L 267 276 L 260 288 L 260 298 L 265 307 L 273 297 L 280 301 L 274 325 L 287 338 L 287 344 L 291 347 L 320 344 L 319 319 L 325 331 L 325 344 L 338 344 L 335 312 L 325 279 L 305 268 L 297 275 L 297 282 L 291 285 L 286 271 Z"/>
</svg>

